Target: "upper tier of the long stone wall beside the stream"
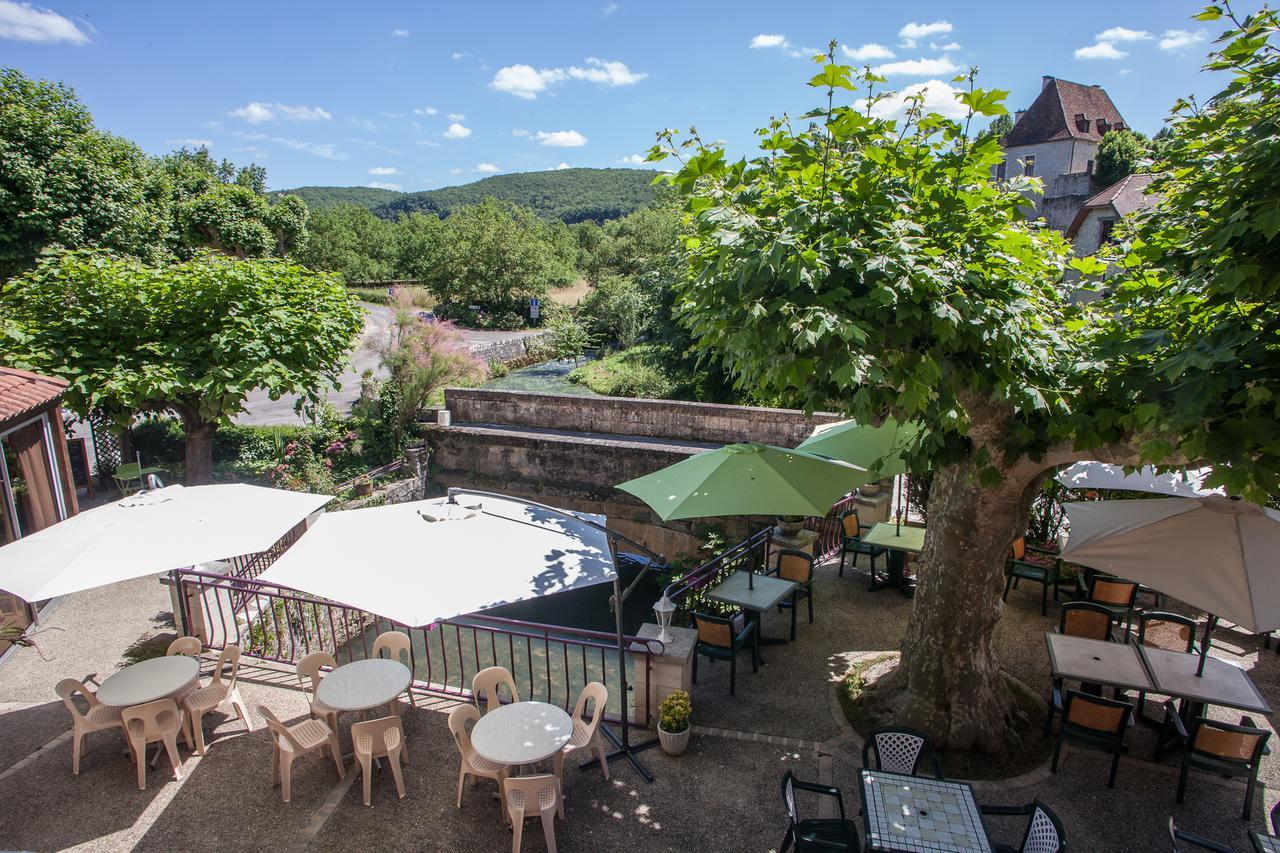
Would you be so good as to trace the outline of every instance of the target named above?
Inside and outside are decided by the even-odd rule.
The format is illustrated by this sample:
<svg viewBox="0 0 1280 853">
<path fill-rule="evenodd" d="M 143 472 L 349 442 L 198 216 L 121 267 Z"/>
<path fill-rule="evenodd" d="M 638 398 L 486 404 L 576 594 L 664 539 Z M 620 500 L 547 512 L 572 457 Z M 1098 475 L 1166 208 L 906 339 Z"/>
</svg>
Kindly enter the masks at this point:
<svg viewBox="0 0 1280 853">
<path fill-rule="evenodd" d="M 815 424 L 838 420 L 837 415 L 824 412 L 805 418 L 804 412 L 794 409 L 485 388 L 448 388 L 444 406 L 453 412 L 454 424 L 509 424 L 712 444 L 754 441 L 781 447 L 795 447 L 809 437 Z M 626 478 L 617 482 L 622 479 Z"/>
</svg>

